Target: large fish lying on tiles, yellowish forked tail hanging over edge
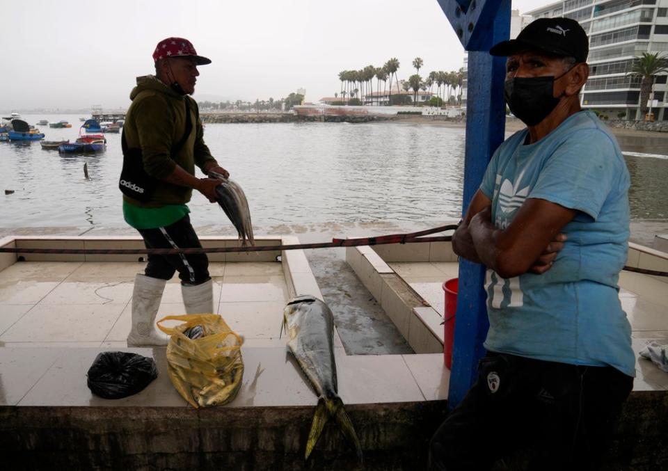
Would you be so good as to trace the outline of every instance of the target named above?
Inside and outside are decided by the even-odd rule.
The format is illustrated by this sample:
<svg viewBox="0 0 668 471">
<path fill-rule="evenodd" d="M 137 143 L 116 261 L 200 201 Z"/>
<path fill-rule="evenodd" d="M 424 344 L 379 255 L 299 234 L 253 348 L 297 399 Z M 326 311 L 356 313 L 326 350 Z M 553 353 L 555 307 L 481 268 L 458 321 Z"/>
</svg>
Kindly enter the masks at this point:
<svg viewBox="0 0 668 471">
<path fill-rule="evenodd" d="M 326 422 L 332 417 L 362 461 L 362 447 L 338 395 L 334 360 L 334 319 L 327 305 L 314 296 L 297 296 L 283 310 L 287 346 L 318 394 L 305 459 L 313 451 Z"/>
</svg>

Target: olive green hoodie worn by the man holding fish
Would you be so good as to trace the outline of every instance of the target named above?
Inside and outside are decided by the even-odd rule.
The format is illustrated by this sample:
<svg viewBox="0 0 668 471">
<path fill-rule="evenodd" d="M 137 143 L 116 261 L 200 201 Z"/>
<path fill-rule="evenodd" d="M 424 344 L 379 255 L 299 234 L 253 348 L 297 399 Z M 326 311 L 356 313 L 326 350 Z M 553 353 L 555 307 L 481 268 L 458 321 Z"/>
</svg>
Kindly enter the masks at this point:
<svg viewBox="0 0 668 471">
<path fill-rule="evenodd" d="M 123 199 L 138 207 L 183 205 L 190 201 L 192 189 L 177 186 L 161 179 L 181 166 L 195 175 L 195 166 L 202 168 L 208 160 L 215 161 L 204 143 L 202 122 L 197 102 L 180 95 L 153 75 L 137 77 L 137 86 L 130 93 L 132 104 L 125 117 L 125 140 L 129 148 L 141 148 L 144 169 L 159 179 L 148 202 L 140 202 L 123 195 Z M 181 141 L 186 131 L 186 106 L 189 101 L 192 130 L 176 155 L 170 155 L 173 145 Z"/>
</svg>

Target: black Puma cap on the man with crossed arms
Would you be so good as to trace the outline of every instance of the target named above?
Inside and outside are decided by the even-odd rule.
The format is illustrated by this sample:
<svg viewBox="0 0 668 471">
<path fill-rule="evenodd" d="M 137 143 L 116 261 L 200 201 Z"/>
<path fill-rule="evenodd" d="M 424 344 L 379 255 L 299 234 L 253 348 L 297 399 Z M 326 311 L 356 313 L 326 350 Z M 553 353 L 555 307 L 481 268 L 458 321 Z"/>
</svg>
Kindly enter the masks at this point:
<svg viewBox="0 0 668 471">
<path fill-rule="evenodd" d="M 492 56 L 512 56 L 522 51 L 543 51 L 561 57 L 587 61 L 589 40 L 580 23 L 571 18 L 539 18 L 520 31 L 517 39 L 499 42 L 489 50 Z"/>
</svg>

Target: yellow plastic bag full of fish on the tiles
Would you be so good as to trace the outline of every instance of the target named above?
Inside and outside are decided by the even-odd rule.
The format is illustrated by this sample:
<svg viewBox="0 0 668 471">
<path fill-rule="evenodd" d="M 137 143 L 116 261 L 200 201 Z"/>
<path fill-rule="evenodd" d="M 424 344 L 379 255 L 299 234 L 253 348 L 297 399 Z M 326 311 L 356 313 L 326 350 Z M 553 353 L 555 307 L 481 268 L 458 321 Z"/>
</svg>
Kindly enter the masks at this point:
<svg viewBox="0 0 668 471">
<path fill-rule="evenodd" d="M 182 321 L 173 328 L 160 324 Z M 157 322 L 170 335 L 167 369 L 172 384 L 191 406 L 221 406 L 241 387 L 244 360 L 241 337 L 218 314 L 167 316 Z"/>
</svg>

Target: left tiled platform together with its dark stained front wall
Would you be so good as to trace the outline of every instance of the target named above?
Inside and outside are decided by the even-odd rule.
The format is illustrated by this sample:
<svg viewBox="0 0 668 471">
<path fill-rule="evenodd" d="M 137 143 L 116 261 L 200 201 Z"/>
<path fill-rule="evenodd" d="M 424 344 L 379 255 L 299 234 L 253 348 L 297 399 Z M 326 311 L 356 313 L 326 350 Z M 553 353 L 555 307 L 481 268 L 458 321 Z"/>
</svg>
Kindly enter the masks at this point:
<svg viewBox="0 0 668 471">
<path fill-rule="evenodd" d="M 170 383 L 164 347 L 125 343 L 143 263 L 62 255 L 8 263 L 0 254 L 0 442 L 11 455 L 8 469 L 304 469 L 317 395 L 279 333 L 290 297 L 321 293 L 301 251 L 278 254 L 280 261 L 272 254 L 211 262 L 215 310 L 244 336 L 245 370 L 230 404 L 197 410 Z M 158 317 L 183 313 L 180 283 L 170 280 Z M 125 399 L 96 397 L 86 372 L 101 351 L 154 358 L 159 376 Z M 366 469 L 424 465 L 429 436 L 445 415 L 443 355 L 347 356 L 335 333 L 335 356 Z M 321 465 L 356 469 L 335 426 L 310 458 L 309 466 Z"/>
</svg>

